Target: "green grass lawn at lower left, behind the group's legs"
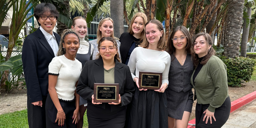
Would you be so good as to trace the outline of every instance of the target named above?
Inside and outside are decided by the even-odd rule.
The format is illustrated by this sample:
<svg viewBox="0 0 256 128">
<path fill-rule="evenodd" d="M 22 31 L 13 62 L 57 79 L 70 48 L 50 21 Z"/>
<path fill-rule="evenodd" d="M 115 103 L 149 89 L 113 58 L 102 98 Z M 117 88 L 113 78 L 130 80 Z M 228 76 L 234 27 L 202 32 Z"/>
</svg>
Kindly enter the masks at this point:
<svg viewBox="0 0 256 128">
<path fill-rule="evenodd" d="M 27 109 L 0 115 L 0 128 L 28 128 Z M 83 128 L 88 128 L 86 112 Z"/>
</svg>

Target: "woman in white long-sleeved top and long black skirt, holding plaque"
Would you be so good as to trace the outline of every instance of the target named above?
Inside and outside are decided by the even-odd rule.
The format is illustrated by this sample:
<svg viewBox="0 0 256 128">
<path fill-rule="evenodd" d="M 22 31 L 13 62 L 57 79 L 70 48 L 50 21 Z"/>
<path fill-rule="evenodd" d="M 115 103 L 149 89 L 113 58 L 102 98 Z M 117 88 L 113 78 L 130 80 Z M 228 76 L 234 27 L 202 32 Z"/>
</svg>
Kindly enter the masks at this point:
<svg viewBox="0 0 256 128">
<path fill-rule="evenodd" d="M 145 26 L 145 37 L 140 47 L 131 53 L 128 66 L 139 88 L 139 71 L 161 72 L 162 85 L 159 90 L 136 89 L 132 101 L 129 128 L 167 128 L 168 110 L 165 89 L 168 86 L 170 55 L 166 46 L 164 29 L 158 20 L 150 20 Z M 136 67 L 136 75 L 133 72 Z"/>
</svg>

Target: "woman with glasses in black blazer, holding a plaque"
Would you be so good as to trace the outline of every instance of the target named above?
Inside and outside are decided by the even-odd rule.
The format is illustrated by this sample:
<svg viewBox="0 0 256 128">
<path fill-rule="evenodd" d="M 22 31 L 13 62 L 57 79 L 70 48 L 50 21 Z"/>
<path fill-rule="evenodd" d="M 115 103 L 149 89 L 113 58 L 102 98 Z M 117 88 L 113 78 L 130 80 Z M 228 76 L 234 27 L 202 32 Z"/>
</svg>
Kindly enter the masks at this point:
<svg viewBox="0 0 256 128">
<path fill-rule="evenodd" d="M 135 91 L 131 72 L 127 65 L 120 63 L 115 39 L 103 37 L 99 40 L 97 48 L 98 59 L 87 61 L 82 69 L 77 94 L 87 100 L 90 128 L 123 128 L 125 106 L 131 102 Z M 119 84 L 119 102 L 94 102 L 94 83 Z"/>
</svg>

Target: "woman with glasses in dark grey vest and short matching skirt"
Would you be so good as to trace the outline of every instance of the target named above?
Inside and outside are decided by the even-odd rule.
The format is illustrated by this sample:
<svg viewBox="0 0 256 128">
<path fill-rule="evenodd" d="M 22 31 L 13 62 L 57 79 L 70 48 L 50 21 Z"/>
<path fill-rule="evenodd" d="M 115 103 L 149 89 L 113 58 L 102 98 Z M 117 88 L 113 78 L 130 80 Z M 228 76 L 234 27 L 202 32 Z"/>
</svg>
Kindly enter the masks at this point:
<svg viewBox="0 0 256 128">
<path fill-rule="evenodd" d="M 192 39 L 184 26 L 177 26 L 170 35 L 166 51 L 171 56 L 169 85 L 166 88 L 168 128 L 187 127 L 193 106 L 190 78 L 194 69 L 191 59 Z"/>
</svg>

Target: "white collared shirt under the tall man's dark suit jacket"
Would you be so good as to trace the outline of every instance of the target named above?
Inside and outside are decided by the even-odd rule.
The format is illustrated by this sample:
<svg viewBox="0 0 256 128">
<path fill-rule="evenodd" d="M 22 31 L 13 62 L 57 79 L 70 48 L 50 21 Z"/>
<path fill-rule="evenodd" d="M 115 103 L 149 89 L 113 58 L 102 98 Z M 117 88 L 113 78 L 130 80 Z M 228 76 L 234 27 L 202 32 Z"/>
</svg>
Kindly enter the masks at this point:
<svg viewBox="0 0 256 128">
<path fill-rule="evenodd" d="M 46 32 L 42 27 L 40 27 L 40 30 L 44 34 L 44 37 L 46 38 L 47 42 L 51 46 L 51 49 L 53 50 L 54 55 L 57 55 L 57 52 L 59 50 L 59 46 L 57 44 L 56 38 L 52 32 L 52 35 Z"/>
</svg>

